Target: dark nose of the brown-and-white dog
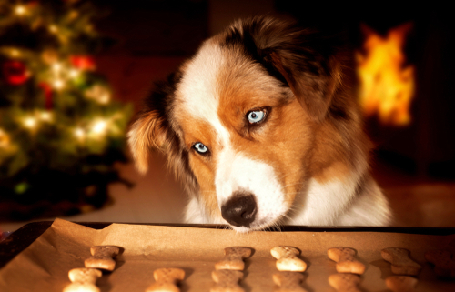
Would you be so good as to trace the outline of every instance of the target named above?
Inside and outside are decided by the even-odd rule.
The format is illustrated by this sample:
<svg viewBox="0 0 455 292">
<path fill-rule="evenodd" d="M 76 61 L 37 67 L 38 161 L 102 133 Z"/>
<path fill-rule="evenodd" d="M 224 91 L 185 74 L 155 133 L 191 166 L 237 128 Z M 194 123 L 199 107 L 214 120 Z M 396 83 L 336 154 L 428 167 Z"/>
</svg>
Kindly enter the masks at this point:
<svg viewBox="0 0 455 292">
<path fill-rule="evenodd" d="M 221 216 L 235 227 L 249 227 L 257 209 L 255 197 L 242 192 L 235 194 L 221 207 Z"/>
</svg>

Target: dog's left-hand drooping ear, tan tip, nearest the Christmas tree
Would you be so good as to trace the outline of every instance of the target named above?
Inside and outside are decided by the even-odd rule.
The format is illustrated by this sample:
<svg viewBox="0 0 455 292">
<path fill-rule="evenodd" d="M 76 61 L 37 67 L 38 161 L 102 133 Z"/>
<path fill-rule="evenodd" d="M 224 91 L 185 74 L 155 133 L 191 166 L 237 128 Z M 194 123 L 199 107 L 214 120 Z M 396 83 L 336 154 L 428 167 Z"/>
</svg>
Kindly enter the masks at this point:
<svg viewBox="0 0 455 292">
<path fill-rule="evenodd" d="M 173 141 L 173 130 L 169 125 L 167 106 L 174 96 L 179 76 L 172 74 L 166 83 L 157 88 L 144 100 L 143 110 L 128 132 L 128 145 L 133 154 L 137 170 L 145 174 L 148 169 L 148 156 L 152 148 L 166 151 Z"/>
</svg>

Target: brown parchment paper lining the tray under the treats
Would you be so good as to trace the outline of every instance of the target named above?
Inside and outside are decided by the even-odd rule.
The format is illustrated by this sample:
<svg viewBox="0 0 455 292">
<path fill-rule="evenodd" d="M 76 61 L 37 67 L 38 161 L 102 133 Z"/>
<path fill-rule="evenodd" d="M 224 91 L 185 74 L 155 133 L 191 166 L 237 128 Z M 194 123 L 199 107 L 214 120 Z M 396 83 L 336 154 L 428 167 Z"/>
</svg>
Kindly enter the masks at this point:
<svg viewBox="0 0 455 292">
<path fill-rule="evenodd" d="M 424 259 L 430 249 L 448 247 L 455 236 L 428 236 L 379 232 L 252 232 L 190 227 L 154 227 L 113 224 L 102 230 L 56 219 L 45 233 L 0 270 L 0 291 L 62 291 L 68 285 L 68 271 L 84 267 L 90 247 L 114 245 L 123 252 L 116 257 L 116 269 L 105 272 L 96 285 L 102 291 L 145 291 L 154 283 L 159 267 L 180 267 L 186 271 L 181 291 L 209 291 L 211 272 L 222 259 L 225 247 L 251 247 L 241 286 L 246 291 L 273 291 L 272 275 L 277 272 L 270 248 L 298 247 L 308 263 L 303 287 L 308 291 L 335 291 L 328 277 L 335 274 L 335 262 L 327 257 L 329 247 L 352 247 L 367 270 L 363 291 L 388 291 L 384 279 L 392 275 L 390 265 L 380 257 L 385 247 L 404 247 L 422 270 L 416 291 L 455 291 L 455 282 L 439 281 Z"/>
</svg>

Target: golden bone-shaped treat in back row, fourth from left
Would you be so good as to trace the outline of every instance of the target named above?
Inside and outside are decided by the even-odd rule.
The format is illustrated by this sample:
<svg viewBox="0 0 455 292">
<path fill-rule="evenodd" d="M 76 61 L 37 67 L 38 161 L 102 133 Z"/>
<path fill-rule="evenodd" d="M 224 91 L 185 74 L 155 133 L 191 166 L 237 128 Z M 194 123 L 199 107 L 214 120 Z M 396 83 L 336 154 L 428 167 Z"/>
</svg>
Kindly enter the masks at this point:
<svg viewBox="0 0 455 292">
<path fill-rule="evenodd" d="M 354 258 L 356 251 L 349 247 L 333 247 L 329 248 L 327 255 L 333 261 L 337 262 L 337 272 L 363 274 L 365 265 Z"/>
</svg>

